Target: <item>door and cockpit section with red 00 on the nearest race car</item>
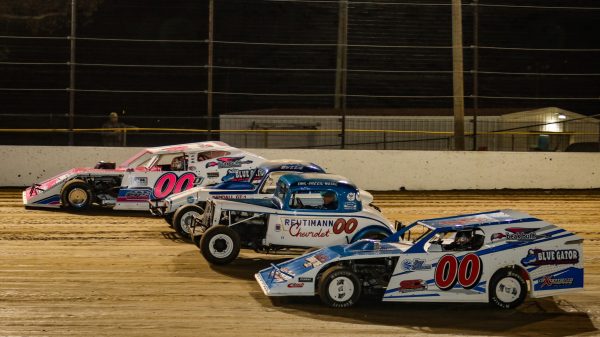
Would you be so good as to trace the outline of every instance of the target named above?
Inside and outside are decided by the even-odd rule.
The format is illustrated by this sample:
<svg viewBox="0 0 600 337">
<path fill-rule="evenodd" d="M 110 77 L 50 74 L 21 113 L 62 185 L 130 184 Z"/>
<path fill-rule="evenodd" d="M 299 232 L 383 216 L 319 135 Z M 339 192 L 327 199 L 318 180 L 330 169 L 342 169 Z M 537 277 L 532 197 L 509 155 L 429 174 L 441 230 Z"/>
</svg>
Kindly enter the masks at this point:
<svg viewBox="0 0 600 337">
<path fill-rule="evenodd" d="M 419 230 L 423 228 L 407 235 L 413 247 L 400 256 L 383 300 L 486 302 L 482 260 L 476 254 L 483 246 L 483 232 L 442 230 L 420 234 Z M 468 241 L 461 243 L 466 235 Z"/>
</svg>

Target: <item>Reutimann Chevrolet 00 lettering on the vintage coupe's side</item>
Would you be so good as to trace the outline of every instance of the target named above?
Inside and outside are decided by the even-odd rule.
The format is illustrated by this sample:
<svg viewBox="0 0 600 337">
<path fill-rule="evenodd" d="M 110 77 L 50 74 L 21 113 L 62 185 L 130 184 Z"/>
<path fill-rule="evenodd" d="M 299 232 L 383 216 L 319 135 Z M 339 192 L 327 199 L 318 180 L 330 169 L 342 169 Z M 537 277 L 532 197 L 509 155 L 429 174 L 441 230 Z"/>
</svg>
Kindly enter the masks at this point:
<svg viewBox="0 0 600 337">
<path fill-rule="evenodd" d="M 285 230 L 294 237 L 312 237 L 325 238 L 335 234 L 352 234 L 358 228 L 358 220 L 350 218 L 333 219 L 302 219 L 302 218 L 282 218 L 282 225 Z"/>
</svg>

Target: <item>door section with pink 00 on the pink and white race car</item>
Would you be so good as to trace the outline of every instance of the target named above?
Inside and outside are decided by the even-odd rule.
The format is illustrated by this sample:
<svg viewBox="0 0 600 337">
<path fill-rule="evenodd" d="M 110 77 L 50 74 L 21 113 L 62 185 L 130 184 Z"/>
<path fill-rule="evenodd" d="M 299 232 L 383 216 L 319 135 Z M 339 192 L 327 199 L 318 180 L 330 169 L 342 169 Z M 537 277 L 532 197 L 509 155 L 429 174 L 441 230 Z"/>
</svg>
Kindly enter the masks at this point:
<svg viewBox="0 0 600 337">
<path fill-rule="evenodd" d="M 161 200 L 202 181 L 188 168 L 184 153 L 156 155 L 123 176 L 114 209 L 147 210 L 148 200 Z"/>
</svg>

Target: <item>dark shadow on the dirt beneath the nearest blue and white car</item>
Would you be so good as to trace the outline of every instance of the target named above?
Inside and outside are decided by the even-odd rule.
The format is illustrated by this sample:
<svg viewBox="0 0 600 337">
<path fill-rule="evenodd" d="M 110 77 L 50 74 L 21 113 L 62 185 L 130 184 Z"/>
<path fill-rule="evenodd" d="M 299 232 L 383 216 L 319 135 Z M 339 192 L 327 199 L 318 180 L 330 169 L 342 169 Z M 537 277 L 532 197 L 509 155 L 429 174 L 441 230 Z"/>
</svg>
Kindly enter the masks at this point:
<svg viewBox="0 0 600 337">
<path fill-rule="evenodd" d="M 559 301 L 559 306 L 553 298 L 528 300 L 517 310 L 501 310 L 485 303 L 390 303 L 363 297 L 355 307 L 332 309 L 316 296 L 265 300 L 260 290 L 251 295 L 264 307 L 299 317 L 397 326 L 429 334 L 558 337 L 597 331 L 586 313 L 565 311 L 568 302 Z"/>
</svg>

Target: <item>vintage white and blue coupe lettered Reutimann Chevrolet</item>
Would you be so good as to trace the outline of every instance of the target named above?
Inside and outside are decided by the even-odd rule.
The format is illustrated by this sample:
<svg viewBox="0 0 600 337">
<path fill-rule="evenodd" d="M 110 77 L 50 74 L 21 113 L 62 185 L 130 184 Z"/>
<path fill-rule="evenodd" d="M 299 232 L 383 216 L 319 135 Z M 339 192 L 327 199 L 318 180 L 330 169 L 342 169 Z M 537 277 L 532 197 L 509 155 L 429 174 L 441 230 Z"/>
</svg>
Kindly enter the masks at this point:
<svg viewBox="0 0 600 337">
<path fill-rule="evenodd" d="M 214 264 L 233 261 L 241 247 L 268 252 L 387 237 L 393 226 L 372 201 L 341 176 L 283 175 L 270 199 L 210 200 L 192 236 Z"/>
</svg>

